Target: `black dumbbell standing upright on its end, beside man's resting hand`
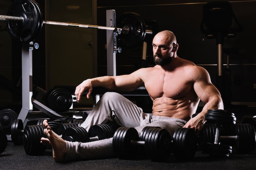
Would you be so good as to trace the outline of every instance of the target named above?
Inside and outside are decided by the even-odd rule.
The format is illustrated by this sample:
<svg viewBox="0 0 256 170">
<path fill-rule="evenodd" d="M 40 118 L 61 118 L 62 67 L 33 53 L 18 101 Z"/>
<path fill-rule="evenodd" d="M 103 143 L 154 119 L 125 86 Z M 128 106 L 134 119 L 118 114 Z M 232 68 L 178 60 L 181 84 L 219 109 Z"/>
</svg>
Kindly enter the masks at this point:
<svg viewBox="0 0 256 170">
<path fill-rule="evenodd" d="M 221 109 L 209 109 L 205 114 L 205 120 L 207 123 L 216 124 L 216 128 L 213 142 L 209 142 L 209 140 L 206 142 L 201 142 L 203 152 L 208 153 L 214 157 L 229 157 L 229 154 L 232 153 L 232 146 L 220 144 L 220 134 L 228 129 L 227 126 L 234 126 L 236 124 L 236 117 L 234 113 L 230 113 Z M 235 136 L 229 137 L 234 138 Z M 211 135 L 210 138 L 212 139 L 213 136 Z"/>
</svg>

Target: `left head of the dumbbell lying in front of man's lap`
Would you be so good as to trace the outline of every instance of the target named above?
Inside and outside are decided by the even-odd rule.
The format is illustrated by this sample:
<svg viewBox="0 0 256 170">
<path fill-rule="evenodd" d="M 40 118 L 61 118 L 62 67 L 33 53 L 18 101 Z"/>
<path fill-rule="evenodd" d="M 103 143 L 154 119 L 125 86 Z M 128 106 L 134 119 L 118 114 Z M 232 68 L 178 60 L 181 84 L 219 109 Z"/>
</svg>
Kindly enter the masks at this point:
<svg viewBox="0 0 256 170">
<path fill-rule="evenodd" d="M 139 134 L 134 128 L 120 127 L 113 136 L 113 149 L 120 159 L 131 159 L 136 156 L 138 146 L 132 146 L 131 141 L 139 140 Z"/>
</svg>

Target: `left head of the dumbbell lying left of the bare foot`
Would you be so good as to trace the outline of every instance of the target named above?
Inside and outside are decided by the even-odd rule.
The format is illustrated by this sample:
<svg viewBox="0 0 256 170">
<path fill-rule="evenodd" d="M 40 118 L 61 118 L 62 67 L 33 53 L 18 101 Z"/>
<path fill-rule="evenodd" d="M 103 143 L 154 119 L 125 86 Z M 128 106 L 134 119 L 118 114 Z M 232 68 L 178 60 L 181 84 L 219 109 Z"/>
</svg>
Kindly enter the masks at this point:
<svg viewBox="0 0 256 170">
<path fill-rule="evenodd" d="M 11 125 L 11 141 L 15 145 L 22 144 L 22 136 L 23 136 L 23 123 L 22 120 L 16 119 L 13 121 Z"/>
</svg>

